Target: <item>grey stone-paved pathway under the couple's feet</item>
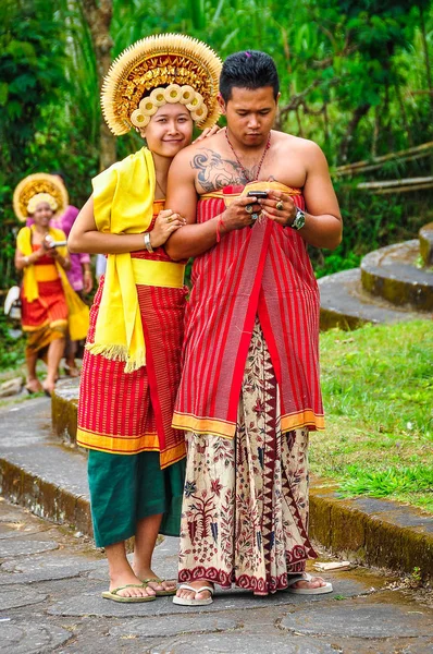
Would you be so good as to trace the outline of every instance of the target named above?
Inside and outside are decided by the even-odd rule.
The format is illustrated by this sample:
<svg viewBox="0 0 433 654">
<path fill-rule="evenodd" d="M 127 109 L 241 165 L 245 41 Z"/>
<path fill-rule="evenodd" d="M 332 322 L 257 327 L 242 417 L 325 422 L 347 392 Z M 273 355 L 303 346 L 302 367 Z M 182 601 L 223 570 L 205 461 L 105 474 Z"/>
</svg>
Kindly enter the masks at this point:
<svg viewBox="0 0 433 654">
<path fill-rule="evenodd" d="M 154 568 L 174 577 L 176 538 Z M 89 538 L 0 500 L 0 653 L 431 654 L 433 610 L 367 569 L 326 574 L 334 592 L 253 597 L 218 591 L 201 610 L 170 597 L 102 600 L 107 564 Z"/>
</svg>

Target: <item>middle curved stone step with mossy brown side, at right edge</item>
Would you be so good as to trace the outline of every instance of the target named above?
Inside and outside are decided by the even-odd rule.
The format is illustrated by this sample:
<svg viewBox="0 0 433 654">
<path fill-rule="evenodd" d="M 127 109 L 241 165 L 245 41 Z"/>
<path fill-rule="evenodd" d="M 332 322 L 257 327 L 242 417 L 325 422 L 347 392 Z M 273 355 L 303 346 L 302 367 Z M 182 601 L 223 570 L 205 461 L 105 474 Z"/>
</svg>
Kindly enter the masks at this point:
<svg viewBox="0 0 433 654">
<path fill-rule="evenodd" d="M 417 267 L 418 240 L 406 241 L 370 252 L 361 262 L 366 291 L 395 306 L 433 311 L 433 272 Z"/>
</svg>

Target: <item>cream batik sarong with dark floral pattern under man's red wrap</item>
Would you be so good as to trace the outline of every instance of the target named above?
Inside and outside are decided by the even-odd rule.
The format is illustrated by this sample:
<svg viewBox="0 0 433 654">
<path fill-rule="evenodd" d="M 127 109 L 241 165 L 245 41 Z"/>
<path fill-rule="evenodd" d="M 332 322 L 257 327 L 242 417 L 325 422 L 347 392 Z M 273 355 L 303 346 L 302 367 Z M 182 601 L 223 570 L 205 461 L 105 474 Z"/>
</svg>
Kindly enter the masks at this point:
<svg viewBox="0 0 433 654">
<path fill-rule="evenodd" d="M 181 582 L 265 595 L 316 558 L 308 529 L 308 429 L 281 433 L 279 388 L 258 320 L 235 438 L 187 434 Z"/>
</svg>

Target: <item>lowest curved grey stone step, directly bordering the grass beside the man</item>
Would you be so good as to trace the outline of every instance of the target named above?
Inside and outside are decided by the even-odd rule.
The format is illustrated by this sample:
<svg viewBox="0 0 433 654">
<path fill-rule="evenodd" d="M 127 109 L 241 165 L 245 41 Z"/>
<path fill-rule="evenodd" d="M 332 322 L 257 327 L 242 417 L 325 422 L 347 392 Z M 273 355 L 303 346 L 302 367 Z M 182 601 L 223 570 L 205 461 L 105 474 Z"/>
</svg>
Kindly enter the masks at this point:
<svg viewBox="0 0 433 654">
<path fill-rule="evenodd" d="M 361 283 L 360 268 L 343 270 L 318 280 L 320 289 L 320 328 L 357 329 L 366 323 L 401 323 L 433 318 L 433 313 L 394 306 L 368 293 Z"/>
</svg>

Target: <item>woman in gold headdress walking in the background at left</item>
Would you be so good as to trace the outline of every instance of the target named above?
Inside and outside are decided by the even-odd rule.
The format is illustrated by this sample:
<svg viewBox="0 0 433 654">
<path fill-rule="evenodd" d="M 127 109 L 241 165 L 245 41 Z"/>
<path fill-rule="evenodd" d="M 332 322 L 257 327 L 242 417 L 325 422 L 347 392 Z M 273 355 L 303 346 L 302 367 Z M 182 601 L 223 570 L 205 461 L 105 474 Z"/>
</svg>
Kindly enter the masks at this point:
<svg viewBox="0 0 433 654">
<path fill-rule="evenodd" d="M 67 194 L 51 175 L 38 173 L 25 178 L 14 193 L 14 209 L 21 220 L 32 216 L 32 227 L 20 230 L 16 241 L 15 267 L 24 271 L 22 287 L 22 325 L 27 332 L 27 385 L 29 392 L 45 390 L 51 395 L 63 355 L 69 315 L 73 328 L 87 332 L 88 310 L 74 298 L 65 271 L 71 261 L 63 231 L 50 227 L 50 220 L 64 210 Z M 76 322 L 78 312 L 78 322 Z M 42 359 L 48 366 L 40 384 L 36 364 Z"/>
</svg>

